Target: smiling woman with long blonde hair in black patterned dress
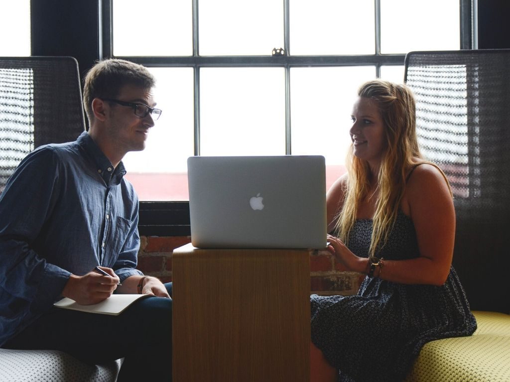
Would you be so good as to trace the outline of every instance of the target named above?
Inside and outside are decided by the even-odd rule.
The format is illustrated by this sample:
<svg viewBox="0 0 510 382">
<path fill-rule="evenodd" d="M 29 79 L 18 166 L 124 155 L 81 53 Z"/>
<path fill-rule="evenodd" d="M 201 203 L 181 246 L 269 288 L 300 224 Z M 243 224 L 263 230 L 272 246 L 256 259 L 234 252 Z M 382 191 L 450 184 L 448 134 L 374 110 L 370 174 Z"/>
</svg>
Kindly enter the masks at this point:
<svg viewBox="0 0 510 382">
<path fill-rule="evenodd" d="M 312 382 L 402 380 L 424 343 L 476 329 L 451 267 L 451 190 L 421 159 L 411 91 L 375 80 L 358 95 L 348 171 L 327 193 L 328 250 L 367 276 L 357 295 L 312 295 Z"/>
</svg>

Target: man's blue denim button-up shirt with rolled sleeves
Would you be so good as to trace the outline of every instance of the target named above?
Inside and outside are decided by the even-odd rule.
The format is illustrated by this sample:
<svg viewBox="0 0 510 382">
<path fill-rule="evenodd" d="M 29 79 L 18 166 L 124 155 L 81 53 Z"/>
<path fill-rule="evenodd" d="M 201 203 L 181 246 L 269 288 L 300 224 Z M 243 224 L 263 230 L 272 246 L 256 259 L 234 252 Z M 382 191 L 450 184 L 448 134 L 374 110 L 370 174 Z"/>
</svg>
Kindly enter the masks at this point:
<svg viewBox="0 0 510 382">
<path fill-rule="evenodd" d="M 32 151 L 0 195 L 0 346 L 52 308 L 71 273 L 136 270 L 138 196 L 88 133 Z"/>
</svg>

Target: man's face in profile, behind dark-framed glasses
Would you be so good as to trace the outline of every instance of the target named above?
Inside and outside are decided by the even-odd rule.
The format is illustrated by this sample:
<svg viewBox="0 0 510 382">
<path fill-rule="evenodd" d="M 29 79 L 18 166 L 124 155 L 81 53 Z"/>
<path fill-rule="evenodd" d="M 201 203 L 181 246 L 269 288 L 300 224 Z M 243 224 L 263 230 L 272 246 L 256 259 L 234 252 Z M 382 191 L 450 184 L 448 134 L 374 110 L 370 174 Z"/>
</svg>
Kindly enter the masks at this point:
<svg viewBox="0 0 510 382">
<path fill-rule="evenodd" d="M 156 103 L 150 89 L 143 89 L 133 85 L 124 85 L 117 100 L 143 104 L 154 108 Z M 145 148 L 145 140 L 149 129 L 154 126 L 151 114 L 140 117 L 135 114 L 135 108 L 110 103 L 108 112 L 108 128 L 106 133 L 111 143 L 117 147 L 122 156 L 128 151 L 140 151 Z"/>
</svg>

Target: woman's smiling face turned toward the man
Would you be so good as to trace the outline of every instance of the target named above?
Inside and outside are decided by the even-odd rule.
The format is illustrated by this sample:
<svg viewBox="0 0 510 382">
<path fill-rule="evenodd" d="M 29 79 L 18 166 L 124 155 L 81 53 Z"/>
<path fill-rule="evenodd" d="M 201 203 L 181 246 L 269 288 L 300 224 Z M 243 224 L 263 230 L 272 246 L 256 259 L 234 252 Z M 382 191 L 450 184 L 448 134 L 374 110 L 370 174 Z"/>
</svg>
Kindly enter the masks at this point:
<svg viewBox="0 0 510 382">
<path fill-rule="evenodd" d="M 378 167 L 386 148 L 385 126 L 377 101 L 359 97 L 352 108 L 352 127 L 349 134 L 353 154 Z"/>
</svg>

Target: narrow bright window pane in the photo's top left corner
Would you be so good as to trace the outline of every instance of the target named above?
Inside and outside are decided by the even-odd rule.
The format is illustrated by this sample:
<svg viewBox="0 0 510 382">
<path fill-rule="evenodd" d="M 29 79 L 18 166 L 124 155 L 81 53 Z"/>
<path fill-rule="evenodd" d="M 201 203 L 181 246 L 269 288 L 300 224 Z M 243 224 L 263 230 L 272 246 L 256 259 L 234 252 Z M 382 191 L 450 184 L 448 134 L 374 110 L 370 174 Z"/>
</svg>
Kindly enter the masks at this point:
<svg viewBox="0 0 510 382">
<path fill-rule="evenodd" d="M 0 56 L 30 56 L 30 0 L 3 1 Z"/>
</svg>

